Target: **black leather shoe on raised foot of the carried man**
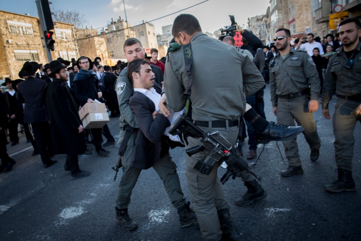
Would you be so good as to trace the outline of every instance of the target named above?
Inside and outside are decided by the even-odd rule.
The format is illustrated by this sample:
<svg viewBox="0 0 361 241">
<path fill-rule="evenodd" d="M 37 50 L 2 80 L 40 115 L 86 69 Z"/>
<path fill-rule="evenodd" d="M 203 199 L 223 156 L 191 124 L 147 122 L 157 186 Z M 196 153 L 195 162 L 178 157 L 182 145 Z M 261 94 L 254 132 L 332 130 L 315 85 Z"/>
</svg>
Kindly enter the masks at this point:
<svg viewBox="0 0 361 241">
<path fill-rule="evenodd" d="M 270 121 L 266 129 L 259 133 L 255 131 L 257 143 L 267 144 L 270 141 L 284 141 L 304 131 L 302 126 L 281 125 Z"/>
</svg>

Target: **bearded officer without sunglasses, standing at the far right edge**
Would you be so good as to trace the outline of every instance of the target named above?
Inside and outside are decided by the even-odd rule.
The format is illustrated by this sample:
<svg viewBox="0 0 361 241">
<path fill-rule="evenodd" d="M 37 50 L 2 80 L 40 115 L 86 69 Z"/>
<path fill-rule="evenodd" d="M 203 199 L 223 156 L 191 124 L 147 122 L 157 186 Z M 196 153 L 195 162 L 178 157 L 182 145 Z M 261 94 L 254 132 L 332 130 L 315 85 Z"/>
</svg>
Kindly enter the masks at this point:
<svg viewBox="0 0 361 241">
<path fill-rule="evenodd" d="M 333 193 L 356 191 L 352 178 L 353 130 L 356 122 L 361 122 L 360 20 L 348 18 L 340 22 L 339 30 L 343 47 L 330 57 L 321 100 L 323 116 L 331 119 L 329 102 L 335 93 L 338 97 L 332 118 L 338 179 L 325 186 Z"/>
</svg>

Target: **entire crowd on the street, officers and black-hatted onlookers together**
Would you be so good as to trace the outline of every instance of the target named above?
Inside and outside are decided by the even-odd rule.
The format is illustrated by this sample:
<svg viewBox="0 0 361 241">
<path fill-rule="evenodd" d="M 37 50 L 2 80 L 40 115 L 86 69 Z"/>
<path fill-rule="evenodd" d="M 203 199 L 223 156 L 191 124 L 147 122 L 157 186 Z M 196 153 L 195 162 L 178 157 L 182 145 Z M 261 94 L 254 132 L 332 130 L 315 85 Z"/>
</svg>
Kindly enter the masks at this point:
<svg viewBox="0 0 361 241">
<path fill-rule="evenodd" d="M 91 61 L 86 56 L 73 63 L 59 58 L 44 66 L 26 62 L 19 72 L 21 79 L 7 79 L 4 83 L 7 94 L 0 94 L 1 171 L 10 171 L 16 163 L 6 154 L 4 130 L 8 128 L 10 145 L 17 145 L 14 133 L 21 123 L 24 128 L 31 124 L 32 135 L 27 138 L 34 146 L 33 154 L 40 153 L 44 168 L 57 162 L 52 160 L 53 155 L 66 154 L 64 169 L 71 172 L 73 180 L 89 176 L 90 172 L 78 165 L 78 155 L 91 155 L 86 148 L 90 140 L 84 133 L 78 109 L 95 100 L 105 102 L 111 117 L 119 117 L 118 143 L 126 146 L 120 157 L 123 172 L 115 207 L 116 221 L 121 227 L 128 231 L 138 227 L 128 212 L 131 193 L 140 172 L 152 167 L 177 210 L 181 227 L 198 224 L 205 240 L 240 240 L 217 177 L 223 159 L 208 167 L 210 172 L 204 174 L 201 167 L 212 153 L 203 150 L 186 156 L 185 175 L 191 203 L 186 201 L 169 149 L 197 147 L 200 140 L 187 137 L 186 141 L 177 142 L 165 135 L 172 116 L 191 109 L 195 125 L 207 133 L 218 131 L 237 147 L 240 156 L 247 125 L 248 159 L 256 158 L 258 143 L 282 141 L 288 167 L 280 176 L 291 177 L 303 174 L 298 134 L 302 132 L 305 136 L 310 160 L 315 162 L 319 158 L 321 139 L 313 112 L 318 109 L 323 90 L 321 104 L 326 119 L 331 119 L 332 96 L 338 97 L 332 121 L 338 179 L 325 188 L 333 193 L 355 191 L 352 133 L 356 122 L 361 122 L 360 21 L 355 18 L 342 21 L 340 43 L 327 35 L 323 46 L 314 40 L 313 34 L 307 35 L 305 43 L 291 43 L 290 30 L 284 28 L 276 31 L 274 46 L 263 46 L 251 31 L 236 26 L 235 31 L 243 37 L 240 48 L 231 36 L 219 41 L 204 34 L 196 17 L 179 15 L 173 23 L 174 40 L 165 63 L 157 59 L 156 49 L 147 57 L 142 43 L 135 38 L 127 39 L 123 45 L 127 63 L 113 67 L 102 66 L 99 57 Z M 259 48 L 263 48 L 261 54 L 265 59 L 265 67 L 260 69 L 256 66 Z M 213 70 L 212 74 L 206 74 L 209 70 Z M 266 120 L 265 82 L 270 85 L 278 123 Z M 222 91 L 214 91 L 217 89 Z M 107 139 L 104 144 L 102 134 Z M 104 146 L 115 145 L 107 125 L 90 129 L 88 135 L 99 156 L 110 153 Z M 241 176 L 247 192 L 236 200 L 236 205 L 245 206 L 266 198 L 266 191 L 255 177 L 246 171 Z"/>
</svg>

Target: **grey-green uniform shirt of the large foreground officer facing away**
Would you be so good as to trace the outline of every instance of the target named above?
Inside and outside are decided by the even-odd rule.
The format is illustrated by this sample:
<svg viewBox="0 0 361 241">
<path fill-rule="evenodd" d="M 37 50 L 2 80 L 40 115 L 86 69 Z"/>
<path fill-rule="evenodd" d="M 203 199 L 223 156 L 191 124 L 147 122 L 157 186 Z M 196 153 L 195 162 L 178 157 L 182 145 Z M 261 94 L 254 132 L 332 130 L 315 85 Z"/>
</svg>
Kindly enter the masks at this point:
<svg viewBox="0 0 361 241">
<path fill-rule="evenodd" d="M 255 64 L 235 47 L 197 33 L 192 44 L 192 119 L 235 120 L 244 113 L 246 96 L 264 86 Z M 171 111 L 181 111 L 187 82 L 183 46 L 170 52 L 164 73 L 164 90 Z"/>
</svg>

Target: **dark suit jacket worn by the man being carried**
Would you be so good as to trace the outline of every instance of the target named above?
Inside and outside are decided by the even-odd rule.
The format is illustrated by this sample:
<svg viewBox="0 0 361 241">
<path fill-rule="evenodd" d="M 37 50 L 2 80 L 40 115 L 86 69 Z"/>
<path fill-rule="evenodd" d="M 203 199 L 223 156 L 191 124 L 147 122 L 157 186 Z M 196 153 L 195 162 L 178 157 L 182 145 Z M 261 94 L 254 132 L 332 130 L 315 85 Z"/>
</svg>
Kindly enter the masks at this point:
<svg viewBox="0 0 361 241">
<path fill-rule="evenodd" d="M 157 92 L 160 91 L 160 86 L 156 83 L 155 89 Z M 135 141 L 131 166 L 148 169 L 169 151 L 169 144 L 163 133 L 170 126 L 170 122 L 161 114 L 158 114 L 153 120 L 152 113 L 156 109 L 155 104 L 138 91 L 134 91 L 133 96 L 129 99 L 129 107 L 135 113 L 140 129 Z"/>
</svg>

